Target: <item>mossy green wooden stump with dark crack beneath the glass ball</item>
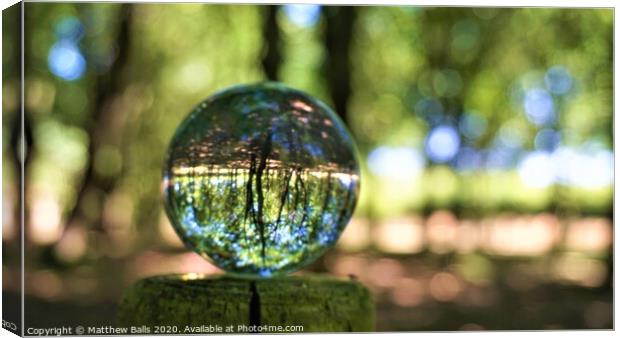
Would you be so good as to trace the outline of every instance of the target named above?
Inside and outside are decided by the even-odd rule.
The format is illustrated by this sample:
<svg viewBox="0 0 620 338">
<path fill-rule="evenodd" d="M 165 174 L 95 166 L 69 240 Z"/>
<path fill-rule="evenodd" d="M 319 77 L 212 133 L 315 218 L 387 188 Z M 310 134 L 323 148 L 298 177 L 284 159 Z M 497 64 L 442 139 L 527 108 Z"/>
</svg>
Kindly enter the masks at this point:
<svg viewBox="0 0 620 338">
<path fill-rule="evenodd" d="M 321 275 L 272 279 L 166 275 L 142 279 L 120 304 L 121 326 L 303 326 L 303 332 L 370 332 L 372 297 L 363 285 Z M 272 332 L 274 333 L 274 332 Z"/>
</svg>

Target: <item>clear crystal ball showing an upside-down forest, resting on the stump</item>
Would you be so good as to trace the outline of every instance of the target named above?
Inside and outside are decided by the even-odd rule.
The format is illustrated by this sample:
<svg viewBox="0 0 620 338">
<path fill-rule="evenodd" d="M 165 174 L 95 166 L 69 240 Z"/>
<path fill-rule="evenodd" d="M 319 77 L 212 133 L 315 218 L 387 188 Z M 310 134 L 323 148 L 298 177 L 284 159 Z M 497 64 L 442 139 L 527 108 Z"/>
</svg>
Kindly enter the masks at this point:
<svg viewBox="0 0 620 338">
<path fill-rule="evenodd" d="M 221 269 L 268 277 L 338 240 L 359 195 L 355 144 L 318 99 L 279 83 L 207 98 L 179 125 L 163 174 L 186 246 Z"/>
</svg>

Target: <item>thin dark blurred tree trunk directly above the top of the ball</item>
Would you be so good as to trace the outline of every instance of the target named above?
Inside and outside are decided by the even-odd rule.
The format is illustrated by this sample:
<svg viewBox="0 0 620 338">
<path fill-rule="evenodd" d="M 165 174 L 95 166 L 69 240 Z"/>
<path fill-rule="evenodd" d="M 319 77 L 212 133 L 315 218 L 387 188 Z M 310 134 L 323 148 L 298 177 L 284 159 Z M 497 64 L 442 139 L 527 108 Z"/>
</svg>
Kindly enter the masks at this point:
<svg viewBox="0 0 620 338">
<path fill-rule="evenodd" d="M 264 7 L 265 21 L 263 22 L 263 70 L 269 81 L 278 79 L 278 69 L 282 62 L 282 53 L 280 50 L 280 30 L 278 29 L 277 5 L 269 5 Z"/>
</svg>

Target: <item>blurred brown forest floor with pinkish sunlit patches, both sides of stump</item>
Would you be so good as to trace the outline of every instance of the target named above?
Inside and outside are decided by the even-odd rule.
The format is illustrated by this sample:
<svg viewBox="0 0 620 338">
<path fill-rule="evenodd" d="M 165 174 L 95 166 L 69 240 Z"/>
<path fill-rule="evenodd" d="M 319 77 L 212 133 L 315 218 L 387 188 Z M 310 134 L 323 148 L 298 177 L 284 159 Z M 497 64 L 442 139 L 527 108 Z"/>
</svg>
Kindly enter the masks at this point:
<svg viewBox="0 0 620 338">
<path fill-rule="evenodd" d="M 378 331 L 612 328 L 610 220 L 538 214 L 452 224 L 448 214 L 373 225 L 356 218 L 335 249 L 298 274 L 359 280 L 375 298 Z M 29 325 L 114 325 L 123 291 L 141 277 L 222 273 L 170 243 L 92 264 L 31 267 Z M 5 275 L 16 285 L 16 271 Z"/>
</svg>

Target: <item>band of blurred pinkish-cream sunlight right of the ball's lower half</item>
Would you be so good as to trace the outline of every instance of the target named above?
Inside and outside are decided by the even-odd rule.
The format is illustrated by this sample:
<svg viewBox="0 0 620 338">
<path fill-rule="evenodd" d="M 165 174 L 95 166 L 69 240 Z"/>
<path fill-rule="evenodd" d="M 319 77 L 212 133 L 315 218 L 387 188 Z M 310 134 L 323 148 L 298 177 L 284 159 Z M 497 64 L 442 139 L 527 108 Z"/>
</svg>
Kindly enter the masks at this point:
<svg viewBox="0 0 620 338">
<path fill-rule="evenodd" d="M 416 253 L 428 248 L 437 254 L 484 250 L 501 256 L 541 256 L 554 248 L 604 253 L 611 248 L 611 223 L 606 219 L 559 219 L 549 213 L 504 214 L 479 220 L 459 220 L 449 211 L 436 211 L 426 222 L 418 217 L 386 219 L 369 229 L 369 220 L 353 218 L 338 247 L 385 253 Z M 372 239 L 372 243 L 369 240 Z"/>
</svg>

